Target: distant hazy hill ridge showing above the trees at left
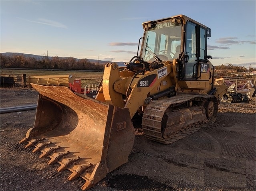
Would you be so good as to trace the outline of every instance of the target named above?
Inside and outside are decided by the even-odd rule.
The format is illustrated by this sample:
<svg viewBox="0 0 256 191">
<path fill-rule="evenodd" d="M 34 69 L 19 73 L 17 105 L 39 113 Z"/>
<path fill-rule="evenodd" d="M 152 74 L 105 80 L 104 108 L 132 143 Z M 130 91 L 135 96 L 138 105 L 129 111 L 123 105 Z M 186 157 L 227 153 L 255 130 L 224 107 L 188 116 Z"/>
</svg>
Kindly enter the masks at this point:
<svg viewBox="0 0 256 191">
<path fill-rule="evenodd" d="M 1 53 L 4 56 L 13 56 L 13 55 L 24 55 L 25 57 L 32 57 L 35 59 L 42 59 L 42 57 L 44 57 L 44 55 L 34 55 L 34 54 L 24 54 L 24 53 L 17 53 L 17 52 L 4 52 Z M 65 58 L 69 58 L 69 57 L 59 57 L 60 59 L 65 59 Z M 48 59 L 52 59 L 51 56 L 48 56 Z M 76 60 L 80 60 L 78 58 L 75 58 Z M 99 64 L 106 64 L 109 63 L 110 61 L 104 61 L 104 60 L 95 60 L 95 59 L 87 59 L 88 61 L 90 61 L 91 63 L 99 63 Z M 124 65 L 125 62 L 115 62 L 117 63 L 117 65 Z"/>
</svg>

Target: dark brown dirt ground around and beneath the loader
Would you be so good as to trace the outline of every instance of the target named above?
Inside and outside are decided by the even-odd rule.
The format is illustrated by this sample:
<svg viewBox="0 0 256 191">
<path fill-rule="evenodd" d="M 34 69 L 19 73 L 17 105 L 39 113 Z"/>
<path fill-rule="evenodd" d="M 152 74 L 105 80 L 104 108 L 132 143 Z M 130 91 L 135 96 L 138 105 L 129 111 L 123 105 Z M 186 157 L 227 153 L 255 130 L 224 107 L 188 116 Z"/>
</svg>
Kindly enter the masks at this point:
<svg viewBox="0 0 256 191">
<path fill-rule="evenodd" d="M 31 89 L 1 89 L 0 106 L 36 104 Z M 0 190 L 81 190 L 82 178 L 57 172 L 40 152 L 18 142 L 36 110 L 0 115 Z M 170 145 L 147 140 L 137 129 L 129 162 L 91 190 L 255 190 L 255 105 L 221 102 L 214 124 Z"/>
</svg>

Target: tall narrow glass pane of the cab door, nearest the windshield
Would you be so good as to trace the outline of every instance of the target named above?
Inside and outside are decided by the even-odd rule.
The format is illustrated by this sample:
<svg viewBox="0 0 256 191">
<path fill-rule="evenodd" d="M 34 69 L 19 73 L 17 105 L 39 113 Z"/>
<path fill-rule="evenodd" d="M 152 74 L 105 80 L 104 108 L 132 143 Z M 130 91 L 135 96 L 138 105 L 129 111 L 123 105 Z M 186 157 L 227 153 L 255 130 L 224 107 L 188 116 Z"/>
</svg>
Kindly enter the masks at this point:
<svg viewBox="0 0 256 191">
<path fill-rule="evenodd" d="M 196 24 L 187 22 L 186 41 L 185 41 L 185 78 L 195 78 L 193 67 L 196 63 Z M 196 68 L 195 71 L 196 72 Z"/>
</svg>

